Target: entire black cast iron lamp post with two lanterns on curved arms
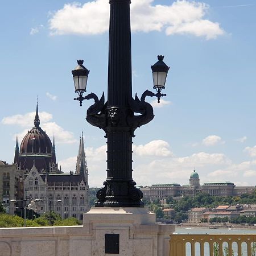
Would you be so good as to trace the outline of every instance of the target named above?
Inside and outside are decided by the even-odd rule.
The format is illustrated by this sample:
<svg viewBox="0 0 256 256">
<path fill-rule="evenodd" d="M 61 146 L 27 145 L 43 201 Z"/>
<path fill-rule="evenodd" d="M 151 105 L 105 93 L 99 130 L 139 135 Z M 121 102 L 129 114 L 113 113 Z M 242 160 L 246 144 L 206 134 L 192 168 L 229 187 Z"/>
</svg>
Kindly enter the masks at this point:
<svg viewBox="0 0 256 256">
<path fill-rule="evenodd" d="M 72 71 L 75 90 L 79 97 L 75 100 L 94 99 L 94 104 L 86 113 L 86 120 L 103 129 L 108 144 L 107 178 L 104 188 L 97 192 L 96 207 L 143 207 L 143 193 L 135 187 L 132 177 L 132 138 L 138 127 L 154 118 L 152 106 L 145 101 L 146 96 L 156 96 L 158 102 L 164 89 L 168 67 L 163 56 L 153 65 L 152 75 L 156 93 L 146 90 L 141 100 L 132 97 L 131 86 L 131 28 L 130 0 L 110 0 L 109 24 L 109 69 L 108 100 L 104 93 L 100 100 L 94 93 L 83 97 L 89 71 L 77 60 L 78 66 Z M 80 79 L 80 76 L 83 79 Z M 81 84 L 83 82 L 84 84 Z M 135 115 L 139 113 L 141 115 Z"/>
</svg>

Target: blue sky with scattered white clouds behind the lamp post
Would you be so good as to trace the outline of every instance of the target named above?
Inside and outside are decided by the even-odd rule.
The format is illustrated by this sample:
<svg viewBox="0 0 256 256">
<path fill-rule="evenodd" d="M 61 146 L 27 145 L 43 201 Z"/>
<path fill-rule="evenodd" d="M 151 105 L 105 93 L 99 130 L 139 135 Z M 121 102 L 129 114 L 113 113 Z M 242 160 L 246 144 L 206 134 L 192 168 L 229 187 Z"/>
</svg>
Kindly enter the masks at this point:
<svg viewBox="0 0 256 256">
<path fill-rule="evenodd" d="M 135 131 L 137 185 L 232 181 L 256 185 L 256 2 L 131 1 L 133 95 L 152 88 L 151 65 L 164 55 L 166 97 L 155 118 Z M 81 132 L 90 187 L 106 179 L 104 132 L 89 125 L 93 101 L 77 97 L 71 70 L 84 59 L 88 93 L 107 92 L 107 0 L 1 1 L 0 159 L 13 163 L 34 125 L 52 139 L 64 172 L 75 170 Z"/>
</svg>

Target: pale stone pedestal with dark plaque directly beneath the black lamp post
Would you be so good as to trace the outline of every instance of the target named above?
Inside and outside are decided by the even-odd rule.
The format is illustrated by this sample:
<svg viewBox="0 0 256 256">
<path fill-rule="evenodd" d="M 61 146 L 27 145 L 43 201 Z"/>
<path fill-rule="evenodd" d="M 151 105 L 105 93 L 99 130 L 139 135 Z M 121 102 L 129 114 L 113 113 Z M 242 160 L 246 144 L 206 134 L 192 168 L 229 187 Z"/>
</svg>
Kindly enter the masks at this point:
<svg viewBox="0 0 256 256">
<path fill-rule="evenodd" d="M 83 226 L 92 236 L 82 246 L 88 256 L 167 256 L 175 231 L 175 226 L 155 224 L 148 208 L 92 208 L 84 213 Z"/>
</svg>

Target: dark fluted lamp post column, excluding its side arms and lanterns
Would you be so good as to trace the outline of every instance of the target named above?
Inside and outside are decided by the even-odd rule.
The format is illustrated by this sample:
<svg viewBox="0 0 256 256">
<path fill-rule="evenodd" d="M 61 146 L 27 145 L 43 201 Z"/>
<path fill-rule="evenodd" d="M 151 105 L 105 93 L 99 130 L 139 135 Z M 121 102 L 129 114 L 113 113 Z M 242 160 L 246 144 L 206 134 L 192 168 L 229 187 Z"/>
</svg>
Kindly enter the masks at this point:
<svg viewBox="0 0 256 256">
<path fill-rule="evenodd" d="M 143 207 L 132 178 L 130 0 L 110 0 L 108 105 L 105 127 L 108 169 L 104 200 L 96 207 Z M 101 192 L 100 194 L 101 198 Z M 103 198 L 102 198 L 103 199 Z"/>
</svg>

